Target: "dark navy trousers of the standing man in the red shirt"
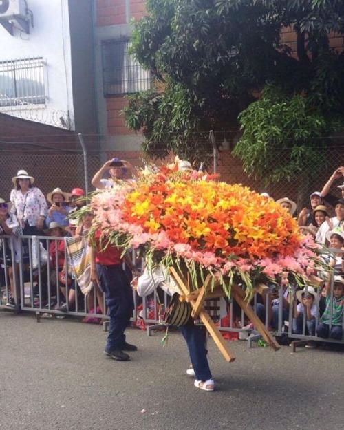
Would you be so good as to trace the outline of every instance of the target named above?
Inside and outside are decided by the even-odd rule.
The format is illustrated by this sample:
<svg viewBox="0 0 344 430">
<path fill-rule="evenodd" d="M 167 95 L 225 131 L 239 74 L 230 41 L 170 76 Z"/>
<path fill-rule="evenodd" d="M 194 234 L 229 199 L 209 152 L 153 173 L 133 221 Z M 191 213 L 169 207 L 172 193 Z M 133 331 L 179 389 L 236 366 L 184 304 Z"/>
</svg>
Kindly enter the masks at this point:
<svg viewBox="0 0 344 430">
<path fill-rule="evenodd" d="M 97 264 L 100 288 L 109 308 L 109 335 L 106 350 L 121 350 L 125 343 L 125 329 L 133 313 L 133 290 L 122 264 Z"/>
</svg>

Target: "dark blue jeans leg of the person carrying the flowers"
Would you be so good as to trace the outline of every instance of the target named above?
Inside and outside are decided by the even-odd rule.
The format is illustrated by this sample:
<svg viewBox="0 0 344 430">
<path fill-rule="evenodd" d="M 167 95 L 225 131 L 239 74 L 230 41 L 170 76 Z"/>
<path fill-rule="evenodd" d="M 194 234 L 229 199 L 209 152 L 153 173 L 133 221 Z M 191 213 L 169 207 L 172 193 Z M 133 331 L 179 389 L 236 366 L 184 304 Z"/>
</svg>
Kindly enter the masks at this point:
<svg viewBox="0 0 344 430">
<path fill-rule="evenodd" d="M 201 327 L 193 323 L 190 317 L 186 325 L 180 327 L 180 331 L 184 336 L 186 345 L 188 345 L 189 355 L 193 370 L 195 370 L 196 379 L 205 382 L 211 379 L 211 369 L 209 369 L 208 359 L 206 358 L 207 350 L 204 346 L 202 338 Z"/>
</svg>

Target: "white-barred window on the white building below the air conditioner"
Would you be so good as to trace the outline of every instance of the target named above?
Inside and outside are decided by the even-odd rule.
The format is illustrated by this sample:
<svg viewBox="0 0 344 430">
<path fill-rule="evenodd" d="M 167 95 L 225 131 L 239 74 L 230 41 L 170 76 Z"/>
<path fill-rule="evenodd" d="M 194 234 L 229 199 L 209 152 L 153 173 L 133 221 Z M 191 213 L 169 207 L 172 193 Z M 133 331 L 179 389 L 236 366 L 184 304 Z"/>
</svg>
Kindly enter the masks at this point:
<svg viewBox="0 0 344 430">
<path fill-rule="evenodd" d="M 45 103 L 43 58 L 0 61 L 0 106 Z"/>
</svg>

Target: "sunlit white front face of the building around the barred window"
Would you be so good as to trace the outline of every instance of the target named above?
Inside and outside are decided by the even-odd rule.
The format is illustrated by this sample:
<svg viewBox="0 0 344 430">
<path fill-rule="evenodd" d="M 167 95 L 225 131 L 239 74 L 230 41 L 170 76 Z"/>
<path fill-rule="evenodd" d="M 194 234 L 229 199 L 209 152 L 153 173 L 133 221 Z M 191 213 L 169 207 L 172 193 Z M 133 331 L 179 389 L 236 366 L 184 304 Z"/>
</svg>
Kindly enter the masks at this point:
<svg viewBox="0 0 344 430">
<path fill-rule="evenodd" d="M 37 112 L 32 112 L 31 117 L 28 112 L 26 118 L 44 118 L 48 122 L 51 117 L 51 123 L 54 123 L 56 114 L 54 125 L 58 125 L 59 117 L 67 122 L 69 112 L 74 128 L 68 1 L 30 0 L 28 7 L 32 10 L 34 19 L 34 27 L 30 25 L 30 34 L 14 30 L 14 36 L 11 36 L 0 27 L 0 61 L 43 57 L 46 61 L 45 112 L 36 109 Z M 6 111 L 6 108 L 3 110 Z M 8 111 L 12 115 L 16 114 L 14 107 L 8 108 Z"/>
</svg>

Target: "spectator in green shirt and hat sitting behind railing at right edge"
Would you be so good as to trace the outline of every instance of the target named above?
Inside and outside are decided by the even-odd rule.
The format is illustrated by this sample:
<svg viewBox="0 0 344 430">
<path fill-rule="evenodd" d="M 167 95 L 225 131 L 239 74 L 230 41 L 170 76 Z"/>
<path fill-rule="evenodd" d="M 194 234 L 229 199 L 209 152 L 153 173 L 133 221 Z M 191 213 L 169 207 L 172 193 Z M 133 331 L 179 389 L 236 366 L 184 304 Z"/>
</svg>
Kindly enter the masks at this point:
<svg viewBox="0 0 344 430">
<path fill-rule="evenodd" d="M 344 278 L 335 276 L 333 294 L 330 290 L 328 285 L 325 290 L 326 308 L 316 326 L 316 334 L 321 338 L 330 337 L 340 341 L 343 338 Z"/>
</svg>

